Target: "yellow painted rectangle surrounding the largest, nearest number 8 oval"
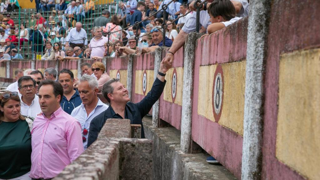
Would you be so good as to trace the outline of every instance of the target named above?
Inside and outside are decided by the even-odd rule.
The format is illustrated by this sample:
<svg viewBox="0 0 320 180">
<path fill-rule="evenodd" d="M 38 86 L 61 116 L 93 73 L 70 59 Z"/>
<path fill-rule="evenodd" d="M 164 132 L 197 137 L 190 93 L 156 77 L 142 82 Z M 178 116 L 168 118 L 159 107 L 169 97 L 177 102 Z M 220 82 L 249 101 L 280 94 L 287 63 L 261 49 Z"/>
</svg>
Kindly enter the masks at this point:
<svg viewBox="0 0 320 180">
<path fill-rule="evenodd" d="M 221 64 L 223 102 L 218 123 L 243 135 L 246 61 Z M 199 72 L 198 114 L 215 121 L 212 107 L 213 78 L 217 65 L 201 66 Z"/>
</svg>

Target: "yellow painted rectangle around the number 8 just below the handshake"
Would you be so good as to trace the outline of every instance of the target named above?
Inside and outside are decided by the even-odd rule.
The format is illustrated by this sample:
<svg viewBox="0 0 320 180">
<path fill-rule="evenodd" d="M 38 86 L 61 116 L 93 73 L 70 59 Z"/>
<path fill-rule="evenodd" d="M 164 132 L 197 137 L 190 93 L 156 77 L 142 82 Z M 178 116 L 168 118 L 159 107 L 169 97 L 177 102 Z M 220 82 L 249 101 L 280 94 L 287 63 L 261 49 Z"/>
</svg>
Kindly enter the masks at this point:
<svg viewBox="0 0 320 180">
<path fill-rule="evenodd" d="M 174 68 L 169 69 L 166 72 L 165 80 L 167 81 L 166 86 L 164 86 L 163 99 L 165 101 L 172 102 L 172 75 Z M 177 92 L 175 104 L 182 106 L 182 90 L 183 90 L 183 68 L 176 68 L 177 71 Z"/>
</svg>

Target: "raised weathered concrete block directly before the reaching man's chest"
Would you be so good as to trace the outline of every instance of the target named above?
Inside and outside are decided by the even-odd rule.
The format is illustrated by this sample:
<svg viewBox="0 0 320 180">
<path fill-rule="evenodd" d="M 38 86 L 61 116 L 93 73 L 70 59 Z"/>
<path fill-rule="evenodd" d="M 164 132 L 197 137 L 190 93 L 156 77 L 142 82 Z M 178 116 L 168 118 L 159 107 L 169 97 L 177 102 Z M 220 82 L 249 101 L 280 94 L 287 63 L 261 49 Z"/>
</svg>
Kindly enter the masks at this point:
<svg viewBox="0 0 320 180">
<path fill-rule="evenodd" d="M 107 119 L 99 135 L 98 140 L 106 137 L 131 137 L 130 119 Z"/>
</svg>

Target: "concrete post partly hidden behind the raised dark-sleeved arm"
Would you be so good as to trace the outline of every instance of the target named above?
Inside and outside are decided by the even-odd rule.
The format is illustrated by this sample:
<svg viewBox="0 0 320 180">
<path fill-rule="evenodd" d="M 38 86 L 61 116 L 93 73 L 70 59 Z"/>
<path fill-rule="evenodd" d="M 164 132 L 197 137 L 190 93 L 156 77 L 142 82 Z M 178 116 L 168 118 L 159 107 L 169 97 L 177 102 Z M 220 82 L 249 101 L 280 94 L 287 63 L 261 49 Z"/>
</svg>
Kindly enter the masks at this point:
<svg viewBox="0 0 320 180">
<path fill-rule="evenodd" d="M 155 68 L 154 68 L 154 79 L 156 80 L 158 75 L 158 70 L 160 68 L 160 63 L 162 60 L 162 52 L 166 47 L 158 47 L 155 52 Z M 159 100 L 152 107 L 152 125 L 153 127 L 159 127 Z"/>
</svg>

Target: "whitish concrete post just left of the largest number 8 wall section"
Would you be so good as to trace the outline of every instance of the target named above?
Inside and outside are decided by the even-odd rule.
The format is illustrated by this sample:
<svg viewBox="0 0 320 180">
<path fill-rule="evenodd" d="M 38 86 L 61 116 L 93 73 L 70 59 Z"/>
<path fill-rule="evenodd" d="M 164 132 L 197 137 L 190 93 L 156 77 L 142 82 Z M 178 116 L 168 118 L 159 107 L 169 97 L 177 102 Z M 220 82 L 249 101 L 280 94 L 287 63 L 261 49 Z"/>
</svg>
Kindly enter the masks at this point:
<svg viewBox="0 0 320 180">
<path fill-rule="evenodd" d="M 194 61 L 197 39 L 203 34 L 190 33 L 184 49 L 184 70 L 183 70 L 183 94 L 182 94 L 182 115 L 181 115 L 181 151 L 191 152 L 191 119 L 192 119 L 192 92 Z"/>
</svg>

